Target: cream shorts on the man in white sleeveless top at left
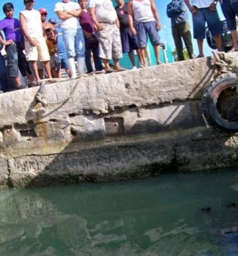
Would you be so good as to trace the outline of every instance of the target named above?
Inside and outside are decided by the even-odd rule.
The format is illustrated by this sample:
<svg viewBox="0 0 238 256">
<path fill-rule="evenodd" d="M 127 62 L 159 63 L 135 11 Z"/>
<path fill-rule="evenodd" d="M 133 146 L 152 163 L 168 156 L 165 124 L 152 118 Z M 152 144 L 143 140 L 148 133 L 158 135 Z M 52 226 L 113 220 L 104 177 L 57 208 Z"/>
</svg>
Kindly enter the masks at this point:
<svg viewBox="0 0 238 256">
<path fill-rule="evenodd" d="M 27 61 L 50 61 L 46 39 L 38 37 L 36 47 L 32 47 L 28 40 L 25 40 L 25 52 Z"/>
</svg>

